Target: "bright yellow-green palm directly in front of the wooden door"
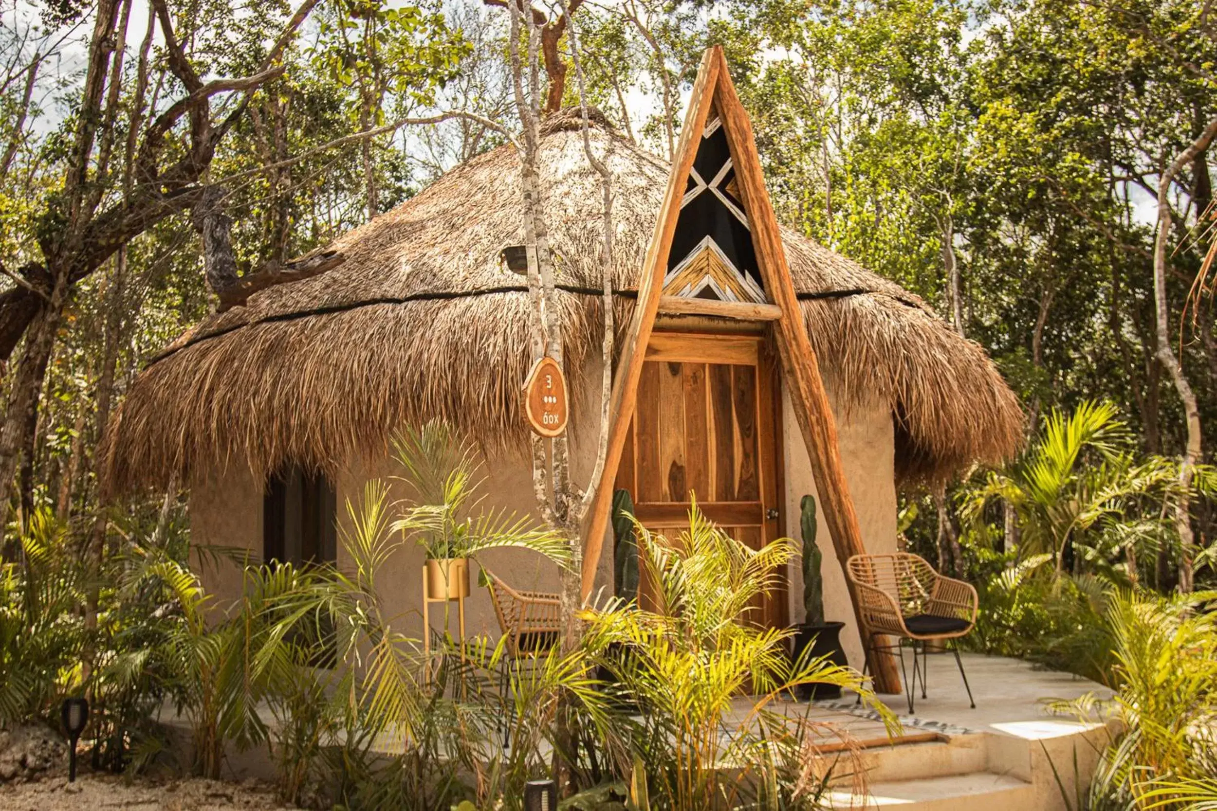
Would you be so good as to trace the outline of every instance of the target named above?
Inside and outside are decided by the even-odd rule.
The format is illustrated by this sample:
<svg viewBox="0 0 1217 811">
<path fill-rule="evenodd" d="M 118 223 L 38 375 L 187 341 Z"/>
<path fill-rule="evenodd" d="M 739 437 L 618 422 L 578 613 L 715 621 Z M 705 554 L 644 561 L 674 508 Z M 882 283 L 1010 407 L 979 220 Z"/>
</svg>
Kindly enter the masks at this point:
<svg viewBox="0 0 1217 811">
<path fill-rule="evenodd" d="M 641 525 L 635 535 L 654 610 L 615 597 L 582 616 L 589 654 L 623 698 L 643 709 L 627 737 L 645 770 L 652 807 L 734 807 L 750 787 L 772 785 L 775 750 L 798 749 L 804 739 L 790 734 L 789 720 L 770 716 L 768 706 L 800 685 L 840 685 L 874 703 L 857 671 L 806 654 L 792 663 L 786 653 L 792 632 L 757 625 L 757 604 L 797 554 L 793 541 L 752 550 L 696 506 L 689 529 L 674 541 Z M 745 689 L 756 695 L 741 710 L 736 700 Z M 803 768 L 815 762 L 798 760 Z"/>
</svg>

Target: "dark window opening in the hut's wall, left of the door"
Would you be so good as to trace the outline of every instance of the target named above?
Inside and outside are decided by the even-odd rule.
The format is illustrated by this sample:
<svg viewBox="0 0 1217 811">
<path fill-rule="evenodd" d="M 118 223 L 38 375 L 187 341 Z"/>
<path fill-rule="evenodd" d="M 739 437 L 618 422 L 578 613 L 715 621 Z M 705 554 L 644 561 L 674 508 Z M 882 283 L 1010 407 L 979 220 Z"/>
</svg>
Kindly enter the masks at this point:
<svg viewBox="0 0 1217 811">
<path fill-rule="evenodd" d="M 292 466 L 267 483 L 262 556 L 293 565 L 338 559 L 337 495 L 321 473 Z"/>
</svg>

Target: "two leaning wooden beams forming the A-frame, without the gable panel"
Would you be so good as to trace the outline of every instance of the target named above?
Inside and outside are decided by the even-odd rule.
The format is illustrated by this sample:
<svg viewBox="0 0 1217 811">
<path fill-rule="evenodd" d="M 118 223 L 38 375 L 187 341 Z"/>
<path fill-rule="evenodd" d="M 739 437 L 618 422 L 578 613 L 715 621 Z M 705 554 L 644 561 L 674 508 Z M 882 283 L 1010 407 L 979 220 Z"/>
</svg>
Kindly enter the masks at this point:
<svg viewBox="0 0 1217 811">
<path fill-rule="evenodd" d="M 727 141 L 744 195 L 753 249 L 764 288 L 773 304 L 781 310 L 781 317 L 772 321 L 772 328 L 776 338 L 783 374 L 790 392 L 795 417 L 811 457 L 812 472 L 815 477 L 815 486 L 820 496 L 829 535 L 832 537 L 842 569 L 851 556 L 865 552 L 862 531 L 858 528 L 858 516 L 854 512 L 853 500 L 849 497 L 849 489 L 841 466 L 836 422 L 829 406 L 824 382 L 820 378 L 819 362 L 807 337 L 802 311 L 798 308 L 798 299 L 790 278 L 790 269 L 786 265 L 786 254 L 781 244 L 781 232 L 778 229 L 769 193 L 764 186 L 761 162 L 757 157 L 752 124 L 735 94 L 723 51 L 714 46 L 706 51 L 697 72 L 697 81 L 694 85 L 689 109 L 685 114 L 685 125 L 680 133 L 680 147 L 677 151 L 672 173 L 668 175 L 663 207 L 660 209 L 655 233 L 643 266 L 638 305 L 630 322 L 628 343 L 622 351 L 617 376 L 613 381 L 608 452 L 605 460 L 604 478 L 600 480 L 600 486 L 593 499 L 585 528 L 584 597 L 590 593 L 595 580 L 596 563 L 600 558 L 608 523 L 608 511 L 612 505 L 617 464 L 621 460 L 630 419 L 634 416 L 634 400 L 646 344 L 650 340 L 651 327 L 660 309 L 668 250 L 680 214 L 680 199 L 711 107 L 716 108 L 723 129 L 727 131 Z M 848 582 L 848 574 L 846 582 Z M 851 599 L 857 616 L 858 601 L 852 590 Z M 860 616 L 858 619 L 860 627 Z M 899 693 L 901 683 L 894 659 L 890 654 L 869 655 L 868 658 L 871 674 L 875 676 L 875 688 L 884 693 Z"/>
</svg>

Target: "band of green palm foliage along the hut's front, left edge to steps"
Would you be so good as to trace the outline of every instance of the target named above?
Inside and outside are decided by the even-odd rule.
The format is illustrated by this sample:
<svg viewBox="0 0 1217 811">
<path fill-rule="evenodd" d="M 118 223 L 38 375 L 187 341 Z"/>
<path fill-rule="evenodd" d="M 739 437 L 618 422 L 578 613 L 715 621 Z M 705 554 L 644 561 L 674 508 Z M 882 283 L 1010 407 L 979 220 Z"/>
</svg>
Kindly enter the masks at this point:
<svg viewBox="0 0 1217 811">
<path fill-rule="evenodd" d="M 63 525 L 45 511 L 32 522 L 24 565 L 6 567 L 0 592 L 4 723 L 51 719 L 65 694 L 88 692 L 92 745 L 142 766 L 172 754 L 156 723 L 168 704 L 190 726 L 194 771 L 218 776 L 231 751 L 265 748 L 285 801 L 352 811 L 515 810 L 555 753 L 578 784 L 619 781 L 656 811 L 708 799 L 809 809 L 828 773 L 807 730 L 768 705 L 808 682 L 864 689 L 852 670 L 792 663 L 789 630 L 750 621 L 793 541 L 753 551 L 696 512 L 674 544 L 634 528 L 663 610 L 612 598 L 585 613 L 584 646 L 521 664 L 486 640 L 425 657 L 385 613 L 378 574 L 405 540 L 383 483 L 347 505 L 349 565 L 239 559 L 231 606 L 186 565 L 176 507 L 151 529 L 120 526 L 120 554 L 97 580 Z M 90 629 L 78 608 L 97 581 Z M 758 695 L 741 704 L 746 686 Z"/>
</svg>

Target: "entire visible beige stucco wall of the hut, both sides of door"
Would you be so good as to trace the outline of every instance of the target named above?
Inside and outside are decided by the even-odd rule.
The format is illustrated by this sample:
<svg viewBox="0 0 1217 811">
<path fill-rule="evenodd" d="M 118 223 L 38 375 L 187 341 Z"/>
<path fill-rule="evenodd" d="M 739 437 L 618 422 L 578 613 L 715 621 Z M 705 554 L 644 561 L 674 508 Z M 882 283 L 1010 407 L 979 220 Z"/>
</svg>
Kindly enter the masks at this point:
<svg viewBox="0 0 1217 811">
<path fill-rule="evenodd" d="M 587 407 L 596 401 L 600 378 L 599 368 L 587 370 L 578 382 L 574 415 L 579 417 L 571 434 L 572 474 L 578 483 L 585 483 L 594 463 L 596 444 L 595 409 Z M 830 393 L 831 395 L 831 393 Z M 581 407 L 582 406 L 582 407 Z M 893 483 L 893 435 L 891 416 L 886 409 L 854 406 L 847 412 L 834 405 L 840 416 L 839 433 L 846 479 L 853 495 L 862 525 L 863 540 L 869 551 L 893 551 L 896 548 L 896 489 Z M 783 435 L 785 439 L 785 525 L 786 531 L 797 537 L 798 502 L 803 494 L 815 492 L 814 481 L 802 435 L 795 422 L 789 395 L 783 395 Z M 391 499 L 408 495 L 405 485 L 392 479 L 399 471 L 388 457 L 354 462 L 335 483 L 338 496 L 340 533 L 350 526 L 347 503 L 358 505 L 363 499 L 369 478 L 381 478 L 391 489 Z M 483 506 L 534 514 L 535 501 L 528 461 L 518 456 L 492 456 L 482 469 L 486 481 Z M 196 546 L 214 545 L 226 550 L 247 550 L 253 557 L 262 554 L 262 483 L 256 481 L 240 464 L 231 464 L 221 473 L 211 473 L 196 480 L 190 497 L 191 533 Z M 847 623 L 842 633 L 849 663 L 862 666 L 862 647 L 854 627 L 853 610 L 845 586 L 845 576 L 820 516 L 820 548 L 824 551 L 824 602 L 829 619 Z M 349 567 L 350 561 L 338 544 L 338 564 Z M 217 596 L 217 606 L 230 604 L 241 590 L 239 567 L 219 556 L 201 556 L 203 581 Z M 486 565 L 504 576 L 512 586 L 525 590 L 557 591 L 557 567 L 526 551 L 499 550 L 482 557 Z M 397 618 L 399 627 L 411 636 L 422 631 L 422 550 L 403 545 L 378 573 L 378 584 L 385 607 Z M 477 587 L 477 568 L 471 570 L 472 590 L 466 601 L 466 632 L 498 633 L 498 623 L 488 592 Z M 612 542 L 606 539 L 604 553 L 596 569 L 596 586 L 611 591 Z M 790 584 L 791 621 L 803 619 L 802 574 L 791 567 Z M 455 631 L 455 604 L 449 618 Z M 443 604 L 432 607 L 432 625 L 443 624 Z"/>
</svg>

